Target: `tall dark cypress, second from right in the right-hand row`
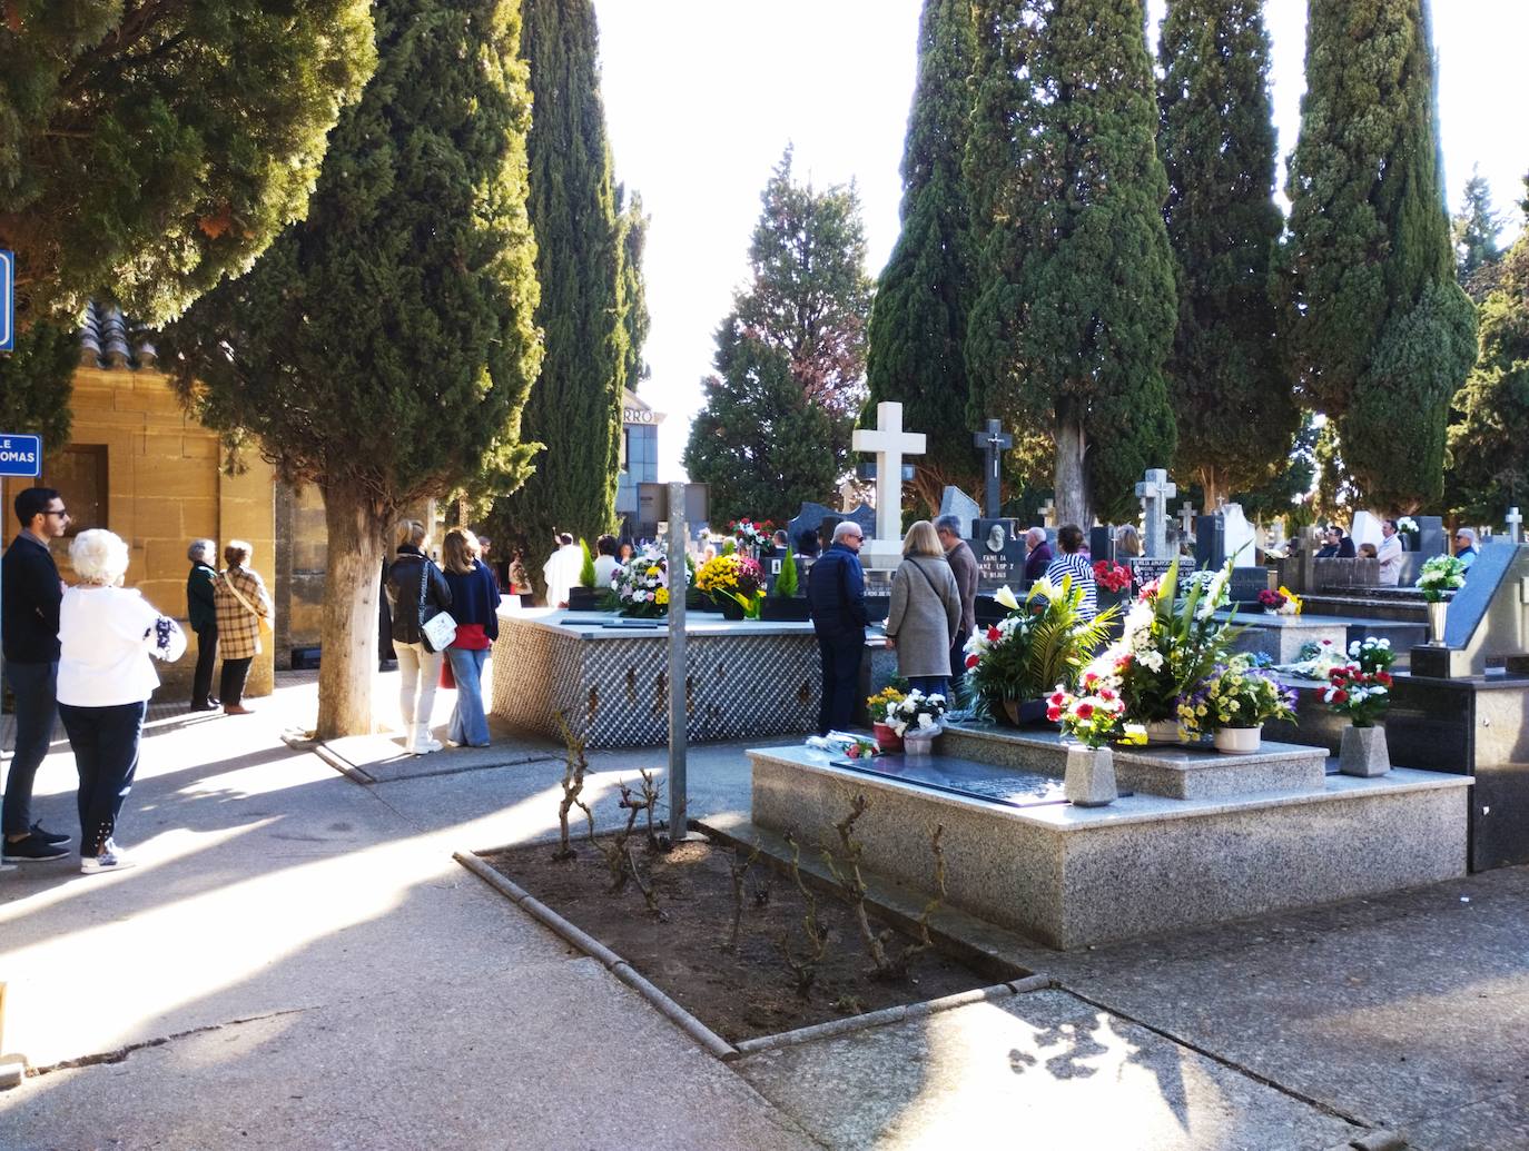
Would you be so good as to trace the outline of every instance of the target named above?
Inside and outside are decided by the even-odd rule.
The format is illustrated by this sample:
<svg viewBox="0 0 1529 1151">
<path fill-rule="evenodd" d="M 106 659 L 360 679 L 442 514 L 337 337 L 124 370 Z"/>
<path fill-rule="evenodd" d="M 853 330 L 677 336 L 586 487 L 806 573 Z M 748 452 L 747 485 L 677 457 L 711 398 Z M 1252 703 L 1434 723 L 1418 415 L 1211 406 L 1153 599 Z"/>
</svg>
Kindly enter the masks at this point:
<svg viewBox="0 0 1529 1151">
<path fill-rule="evenodd" d="M 1261 9 L 1260 0 L 1170 0 L 1157 41 L 1164 219 L 1179 267 L 1168 382 L 1177 468 L 1199 478 L 1206 506 L 1269 478 L 1300 422 L 1269 297 L 1284 217 L 1274 203 Z"/>
</svg>

